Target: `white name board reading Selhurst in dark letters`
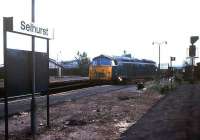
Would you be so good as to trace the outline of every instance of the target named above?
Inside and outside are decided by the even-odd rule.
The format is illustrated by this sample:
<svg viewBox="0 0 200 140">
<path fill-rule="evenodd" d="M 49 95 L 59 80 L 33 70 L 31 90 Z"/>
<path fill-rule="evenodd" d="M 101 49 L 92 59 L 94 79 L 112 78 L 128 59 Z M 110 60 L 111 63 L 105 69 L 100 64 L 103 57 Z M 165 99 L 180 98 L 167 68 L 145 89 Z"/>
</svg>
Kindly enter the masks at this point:
<svg viewBox="0 0 200 140">
<path fill-rule="evenodd" d="M 50 30 L 50 28 L 42 25 L 37 25 L 32 22 L 27 22 L 24 20 L 16 20 L 14 18 L 13 18 L 13 31 L 23 34 L 53 39 L 53 30 Z"/>
</svg>

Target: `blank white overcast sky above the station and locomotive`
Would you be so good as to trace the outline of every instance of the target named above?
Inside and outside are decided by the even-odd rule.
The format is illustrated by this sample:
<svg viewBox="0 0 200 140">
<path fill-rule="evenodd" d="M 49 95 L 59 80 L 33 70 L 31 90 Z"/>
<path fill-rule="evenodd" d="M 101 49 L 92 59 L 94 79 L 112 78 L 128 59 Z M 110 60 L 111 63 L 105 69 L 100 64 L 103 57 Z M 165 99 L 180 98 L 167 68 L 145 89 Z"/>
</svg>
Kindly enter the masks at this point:
<svg viewBox="0 0 200 140">
<path fill-rule="evenodd" d="M 78 51 L 92 59 L 100 54 L 133 57 L 161 64 L 188 57 L 190 36 L 200 35 L 199 0 L 35 0 L 35 22 L 54 29 L 50 58 L 72 60 Z M 0 0 L 0 64 L 3 63 L 2 17 L 31 21 L 31 0 Z M 200 41 L 196 42 L 197 48 Z M 8 33 L 8 48 L 31 49 L 30 37 Z M 36 40 L 36 50 L 46 51 L 46 41 Z M 199 49 L 197 49 L 199 50 Z M 199 56 L 199 51 L 197 52 Z M 200 61 L 197 59 L 196 61 Z"/>
</svg>

